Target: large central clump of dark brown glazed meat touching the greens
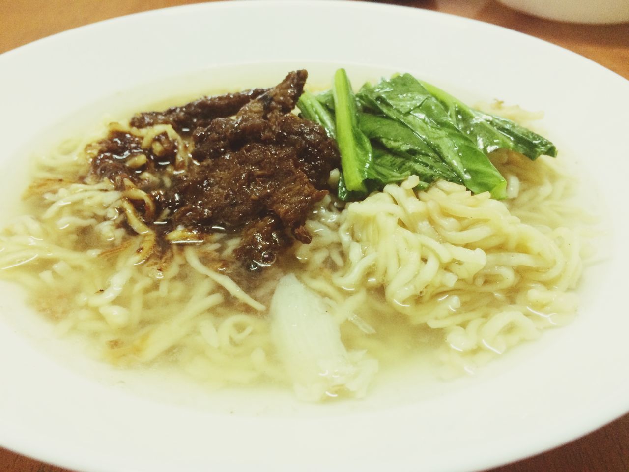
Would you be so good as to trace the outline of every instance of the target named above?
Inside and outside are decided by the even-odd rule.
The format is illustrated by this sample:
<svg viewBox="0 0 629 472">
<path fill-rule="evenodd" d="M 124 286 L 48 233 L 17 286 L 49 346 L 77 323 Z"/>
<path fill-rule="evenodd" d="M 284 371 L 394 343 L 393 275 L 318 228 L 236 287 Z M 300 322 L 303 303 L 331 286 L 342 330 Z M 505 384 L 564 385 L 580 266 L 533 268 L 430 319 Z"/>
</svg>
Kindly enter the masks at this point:
<svg viewBox="0 0 629 472">
<path fill-rule="evenodd" d="M 174 222 L 226 230 L 247 227 L 245 235 L 250 236 L 243 237 L 237 255 L 249 267 L 289 244 L 289 239 L 277 237 L 279 223 L 295 239 L 310 242 L 304 227 L 308 211 L 327 193 L 323 188 L 338 165 L 336 143 L 325 130 L 290 113 L 306 77 L 304 70 L 291 72 L 235 118 L 217 118 L 197 130 L 192 157 L 199 165 L 175 183 Z"/>
</svg>

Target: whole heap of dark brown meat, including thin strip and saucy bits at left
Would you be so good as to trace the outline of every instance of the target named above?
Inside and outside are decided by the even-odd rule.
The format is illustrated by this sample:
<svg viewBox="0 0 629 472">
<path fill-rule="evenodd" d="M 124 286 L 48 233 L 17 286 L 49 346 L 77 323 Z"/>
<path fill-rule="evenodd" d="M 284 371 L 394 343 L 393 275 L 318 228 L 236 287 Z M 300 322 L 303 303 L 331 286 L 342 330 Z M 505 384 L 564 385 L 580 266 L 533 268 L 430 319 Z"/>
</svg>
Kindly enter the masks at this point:
<svg viewBox="0 0 629 472">
<path fill-rule="evenodd" d="M 267 91 L 136 115 L 131 120 L 136 127 L 170 123 L 184 132 L 194 127 L 192 160 L 183 172 L 172 172 L 176 146 L 171 155 L 168 140 L 158 146 L 164 154 L 159 157 L 142 149 L 142 138 L 118 132 L 99 143 L 92 174 L 112 181 L 123 175 L 150 191 L 156 214 L 167 215 L 160 235 L 176 227 L 240 233 L 236 257 L 250 270 L 267 267 L 294 240 L 311 241 L 304 226 L 308 212 L 328 193 L 330 171 L 338 166 L 337 145 L 325 130 L 291 113 L 306 77 L 298 70 Z M 131 172 L 127 162 L 139 154 L 147 163 Z M 169 184 L 160 188 L 140 178 L 143 171 L 159 175 L 167 169 Z"/>
</svg>

